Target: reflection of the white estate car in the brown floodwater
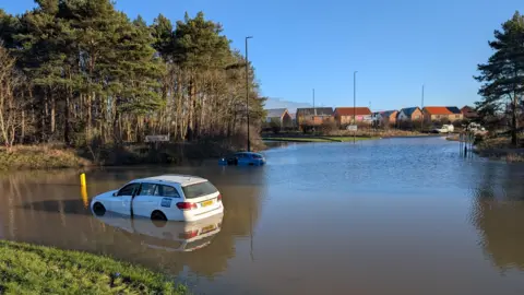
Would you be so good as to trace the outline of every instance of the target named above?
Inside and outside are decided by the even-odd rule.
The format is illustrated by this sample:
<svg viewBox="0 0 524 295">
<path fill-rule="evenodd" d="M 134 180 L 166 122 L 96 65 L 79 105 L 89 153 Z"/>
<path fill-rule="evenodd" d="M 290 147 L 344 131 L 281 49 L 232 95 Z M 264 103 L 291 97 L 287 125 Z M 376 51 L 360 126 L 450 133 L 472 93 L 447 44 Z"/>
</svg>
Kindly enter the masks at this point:
<svg viewBox="0 0 524 295">
<path fill-rule="evenodd" d="M 211 244 L 221 232 L 224 214 L 198 222 L 155 223 L 150 219 L 130 219 L 121 214 L 106 212 L 94 214 L 103 223 L 132 234 L 142 245 L 166 251 L 194 251 Z"/>
</svg>

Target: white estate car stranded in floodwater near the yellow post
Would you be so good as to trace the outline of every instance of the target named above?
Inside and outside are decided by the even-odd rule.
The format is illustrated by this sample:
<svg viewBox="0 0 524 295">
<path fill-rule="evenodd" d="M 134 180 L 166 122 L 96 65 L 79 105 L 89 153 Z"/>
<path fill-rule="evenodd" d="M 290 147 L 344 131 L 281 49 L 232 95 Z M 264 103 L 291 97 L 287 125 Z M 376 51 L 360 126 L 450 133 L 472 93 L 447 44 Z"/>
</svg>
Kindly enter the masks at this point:
<svg viewBox="0 0 524 295">
<path fill-rule="evenodd" d="M 224 212 L 221 192 L 206 179 L 163 175 L 135 179 L 119 190 L 96 196 L 95 213 L 107 211 L 152 220 L 199 221 Z"/>
</svg>

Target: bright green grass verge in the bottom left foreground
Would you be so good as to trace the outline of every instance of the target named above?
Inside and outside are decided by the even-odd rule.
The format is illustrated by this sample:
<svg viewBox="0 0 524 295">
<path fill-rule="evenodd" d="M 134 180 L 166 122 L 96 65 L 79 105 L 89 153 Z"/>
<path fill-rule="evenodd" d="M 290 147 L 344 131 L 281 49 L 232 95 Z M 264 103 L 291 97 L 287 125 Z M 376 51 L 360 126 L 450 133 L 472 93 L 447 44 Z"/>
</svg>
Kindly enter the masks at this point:
<svg viewBox="0 0 524 295">
<path fill-rule="evenodd" d="M 108 257 L 0 240 L 0 294 L 186 294 L 166 276 Z"/>
</svg>

